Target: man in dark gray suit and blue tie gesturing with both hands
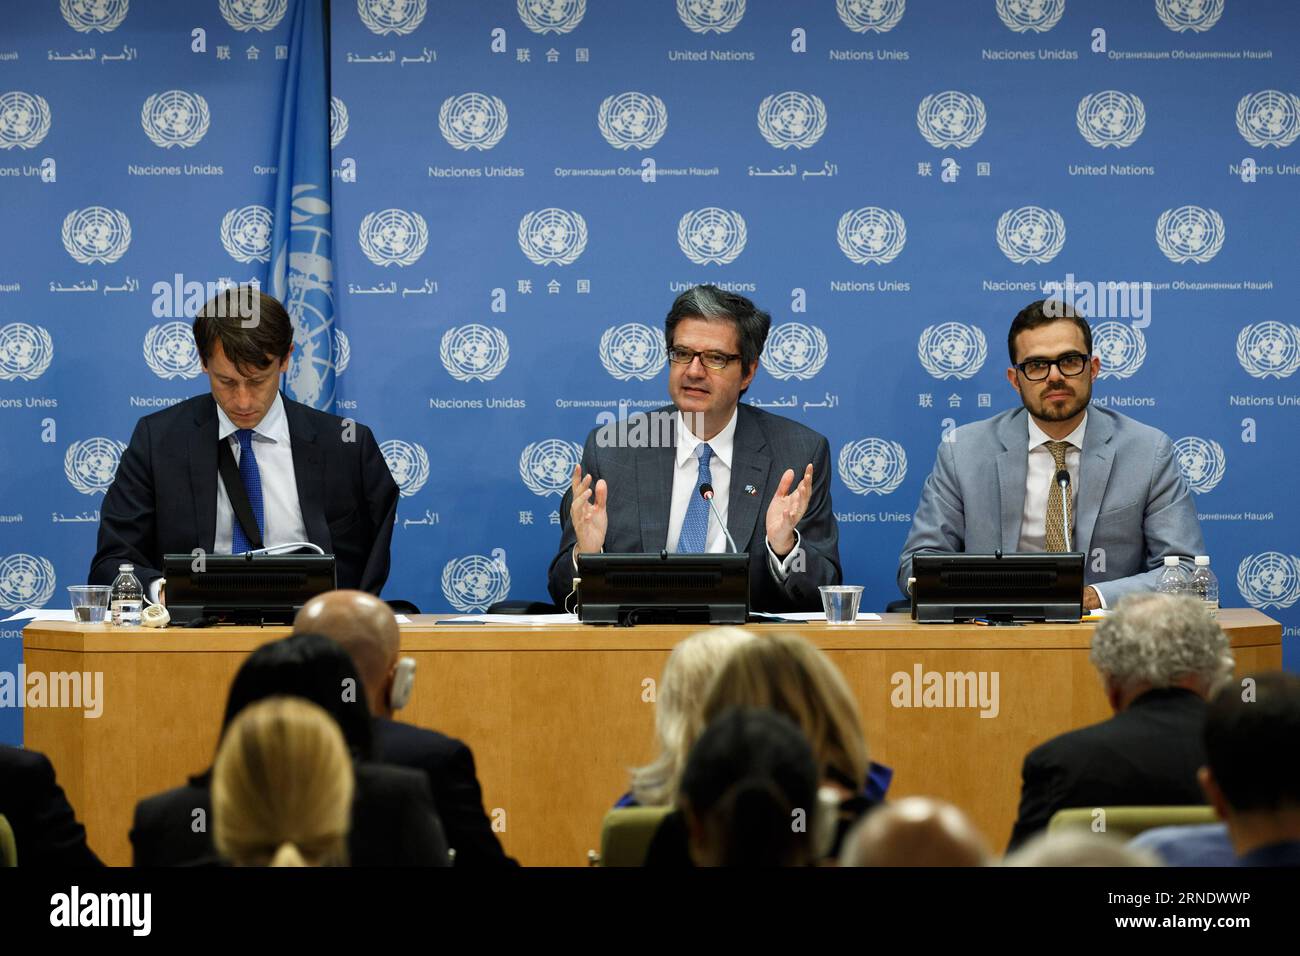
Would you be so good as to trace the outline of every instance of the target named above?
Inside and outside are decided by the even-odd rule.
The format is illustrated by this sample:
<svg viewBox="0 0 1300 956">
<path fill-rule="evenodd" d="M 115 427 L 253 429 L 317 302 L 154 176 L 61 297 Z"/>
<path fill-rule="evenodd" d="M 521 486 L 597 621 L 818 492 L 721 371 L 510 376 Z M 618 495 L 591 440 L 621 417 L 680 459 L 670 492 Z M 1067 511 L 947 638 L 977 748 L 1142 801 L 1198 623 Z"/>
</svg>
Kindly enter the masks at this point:
<svg viewBox="0 0 1300 956">
<path fill-rule="evenodd" d="M 771 321 L 745 297 L 711 285 L 672 303 L 664 324 L 672 405 L 588 436 L 560 503 L 549 575 L 556 604 L 573 589 L 578 554 L 729 550 L 699 494 L 707 483 L 737 550 L 750 555 L 750 605 L 822 609 L 818 587 L 841 580 L 827 440 L 740 405 Z"/>
</svg>

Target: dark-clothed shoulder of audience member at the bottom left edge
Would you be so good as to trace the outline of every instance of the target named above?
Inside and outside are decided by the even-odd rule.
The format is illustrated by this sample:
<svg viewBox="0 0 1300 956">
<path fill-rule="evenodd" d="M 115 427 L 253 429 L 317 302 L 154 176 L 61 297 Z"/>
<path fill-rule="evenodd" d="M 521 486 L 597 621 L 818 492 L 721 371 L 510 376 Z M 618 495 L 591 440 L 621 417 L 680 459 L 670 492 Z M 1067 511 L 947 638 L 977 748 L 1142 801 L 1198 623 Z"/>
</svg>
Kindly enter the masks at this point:
<svg viewBox="0 0 1300 956">
<path fill-rule="evenodd" d="M 0 816 L 21 866 L 103 866 L 43 753 L 0 744 Z"/>
</svg>

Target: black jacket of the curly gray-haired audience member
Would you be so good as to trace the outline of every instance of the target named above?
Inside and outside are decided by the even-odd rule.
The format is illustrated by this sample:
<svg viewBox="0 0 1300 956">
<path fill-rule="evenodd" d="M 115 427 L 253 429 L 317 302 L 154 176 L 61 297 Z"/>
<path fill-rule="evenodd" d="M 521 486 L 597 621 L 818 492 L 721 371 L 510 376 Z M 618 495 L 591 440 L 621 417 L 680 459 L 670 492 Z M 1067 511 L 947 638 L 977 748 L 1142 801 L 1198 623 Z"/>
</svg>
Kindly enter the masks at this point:
<svg viewBox="0 0 1300 956">
<path fill-rule="evenodd" d="M 1110 719 L 1036 747 L 1024 758 L 1009 849 L 1067 808 L 1202 805 L 1205 706 L 1193 691 L 1148 691 Z"/>
</svg>

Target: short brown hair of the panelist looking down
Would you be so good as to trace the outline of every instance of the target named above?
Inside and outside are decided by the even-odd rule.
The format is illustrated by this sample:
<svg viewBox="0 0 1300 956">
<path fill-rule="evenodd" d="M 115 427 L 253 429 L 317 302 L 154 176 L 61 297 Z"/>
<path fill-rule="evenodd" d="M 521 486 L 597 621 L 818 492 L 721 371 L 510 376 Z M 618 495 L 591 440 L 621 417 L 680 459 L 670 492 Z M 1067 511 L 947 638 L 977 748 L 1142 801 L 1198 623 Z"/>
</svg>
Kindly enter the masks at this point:
<svg viewBox="0 0 1300 956">
<path fill-rule="evenodd" d="M 217 342 L 240 373 L 282 362 L 294 346 L 294 324 L 278 300 L 254 286 L 221 290 L 194 316 L 194 343 L 207 365 Z"/>
</svg>

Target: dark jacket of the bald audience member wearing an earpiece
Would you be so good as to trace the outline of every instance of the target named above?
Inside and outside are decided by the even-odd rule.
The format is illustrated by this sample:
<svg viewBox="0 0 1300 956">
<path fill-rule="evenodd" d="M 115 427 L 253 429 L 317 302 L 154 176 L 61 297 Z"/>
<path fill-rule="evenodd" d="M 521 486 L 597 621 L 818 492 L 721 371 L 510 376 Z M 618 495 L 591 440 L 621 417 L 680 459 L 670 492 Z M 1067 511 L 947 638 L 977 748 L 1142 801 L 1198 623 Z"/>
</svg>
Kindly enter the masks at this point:
<svg viewBox="0 0 1300 956">
<path fill-rule="evenodd" d="M 484 813 L 474 754 L 446 734 L 399 721 L 374 721 L 374 758 L 424 773 L 456 866 L 517 866 L 506 856 Z"/>
</svg>

